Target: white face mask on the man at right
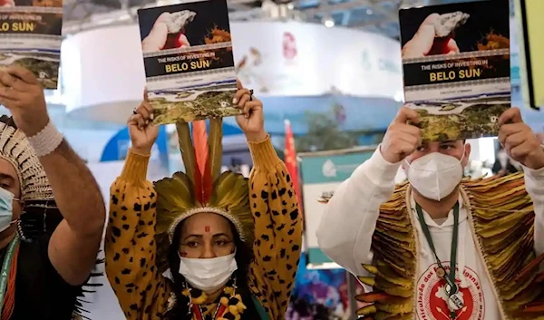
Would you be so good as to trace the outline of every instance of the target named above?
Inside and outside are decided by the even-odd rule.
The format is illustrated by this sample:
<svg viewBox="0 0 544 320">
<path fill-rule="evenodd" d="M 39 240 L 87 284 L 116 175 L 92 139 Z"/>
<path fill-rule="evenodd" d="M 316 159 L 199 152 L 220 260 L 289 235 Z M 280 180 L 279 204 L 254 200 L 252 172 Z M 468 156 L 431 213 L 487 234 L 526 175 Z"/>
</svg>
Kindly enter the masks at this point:
<svg viewBox="0 0 544 320">
<path fill-rule="evenodd" d="M 410 184 L 427 199 L 440 201 L 450 195 L 462 179 L 461 160 L 440 152 L 429 153 L 408 166 L 406 176 Z"/>
</svg>

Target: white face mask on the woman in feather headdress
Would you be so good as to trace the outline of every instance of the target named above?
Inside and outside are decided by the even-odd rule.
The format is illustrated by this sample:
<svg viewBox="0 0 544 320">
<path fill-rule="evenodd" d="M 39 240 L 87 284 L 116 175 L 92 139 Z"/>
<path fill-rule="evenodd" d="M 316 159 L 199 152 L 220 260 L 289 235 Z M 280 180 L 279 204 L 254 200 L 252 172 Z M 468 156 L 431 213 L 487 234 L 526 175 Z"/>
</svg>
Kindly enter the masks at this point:
<svg viewBox="0 0 544 320">
<path fill-rule="evenodd" d="M 190 286 L 204 292 L 214 292 L 225 286 L 238 269 L 235 253 L 210 259 L 180 257 L 180 275 Z"/>
</svg>

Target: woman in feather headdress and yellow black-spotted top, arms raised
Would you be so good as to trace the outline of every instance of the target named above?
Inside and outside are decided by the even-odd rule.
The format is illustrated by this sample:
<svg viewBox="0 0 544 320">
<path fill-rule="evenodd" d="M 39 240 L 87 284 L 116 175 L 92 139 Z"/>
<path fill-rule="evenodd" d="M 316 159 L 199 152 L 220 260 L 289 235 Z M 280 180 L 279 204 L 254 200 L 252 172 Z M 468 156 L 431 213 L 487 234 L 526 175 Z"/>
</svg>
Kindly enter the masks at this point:
<svg viewBox="0 0 544 320">
<path fill-rule="evenodd" d="M 234 103 L 250 178 L 221 171 L 222 119 L 177 123 L 185 172 L 151 184 L 158 129 L 146 101 L 128 124 L 132 147 L 112 185 L 106 274 L 129 320 L 284 319 L 301 252 L 293 184 L 264 129 L 262 103 Z"/>
</svg>

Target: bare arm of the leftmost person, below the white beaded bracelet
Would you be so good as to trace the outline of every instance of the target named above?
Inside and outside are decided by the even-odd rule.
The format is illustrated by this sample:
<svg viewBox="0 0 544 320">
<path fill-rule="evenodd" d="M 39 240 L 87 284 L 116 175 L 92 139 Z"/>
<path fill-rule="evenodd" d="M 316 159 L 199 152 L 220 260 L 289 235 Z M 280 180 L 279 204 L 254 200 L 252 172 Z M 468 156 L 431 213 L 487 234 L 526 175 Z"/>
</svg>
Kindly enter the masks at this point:
<svg viewBox="0 0 544 320">
<path fill-rule="evenodd" d="M 49 242 L 49 258 L 64 281 L 81 285 L 95 265 L 102 240 L 106 218 L 102 192 L 66 141 L 40 161 L 63 215 Z"/>
</svg>

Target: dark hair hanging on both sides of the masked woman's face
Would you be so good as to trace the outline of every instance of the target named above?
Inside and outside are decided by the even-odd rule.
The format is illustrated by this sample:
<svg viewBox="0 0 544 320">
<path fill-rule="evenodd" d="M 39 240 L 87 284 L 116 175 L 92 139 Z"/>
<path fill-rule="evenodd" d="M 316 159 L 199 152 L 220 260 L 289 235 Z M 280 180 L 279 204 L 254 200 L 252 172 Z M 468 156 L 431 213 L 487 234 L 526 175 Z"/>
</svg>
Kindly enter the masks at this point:
<svg viewBox="0 0 544 320">
<path fill-rule="evenodd" d="M 180 269 L 180 256 L 178 255 L 178 247 L 180 247 L 181 228 L 184 221 L 182 221 L 174 232 L 173 241 L 168 249 L 168 265 L 173 277 L 173 292 L 176 295 L 176 305 L 170 312 L 165 315 L 166 319 L 180 320 L 184 319 L 189 313 L 189 300 L 186 296 L 181 295 L 185 285 L 185 278 L 180 275 L 178 270 Z M 242 242 L 239 238 L 238 231 L 234 225 L 228 221 L 232 234 L 234 235 L 234 244 L 236 246 L 236 263 L 238 269 L 234 272 L 236 276 L 236 285 L 238 286 L 238 293 L 242 296 L 242 300 L 247 305 L 247 298 L 250 297 L 248 287 L 248 267 L 252 258 L 251 246 Z M 246 297 L 246 298 L 244 298 Z M 250 301 L 250 300 L 249 300 Z"/>
</svg>

